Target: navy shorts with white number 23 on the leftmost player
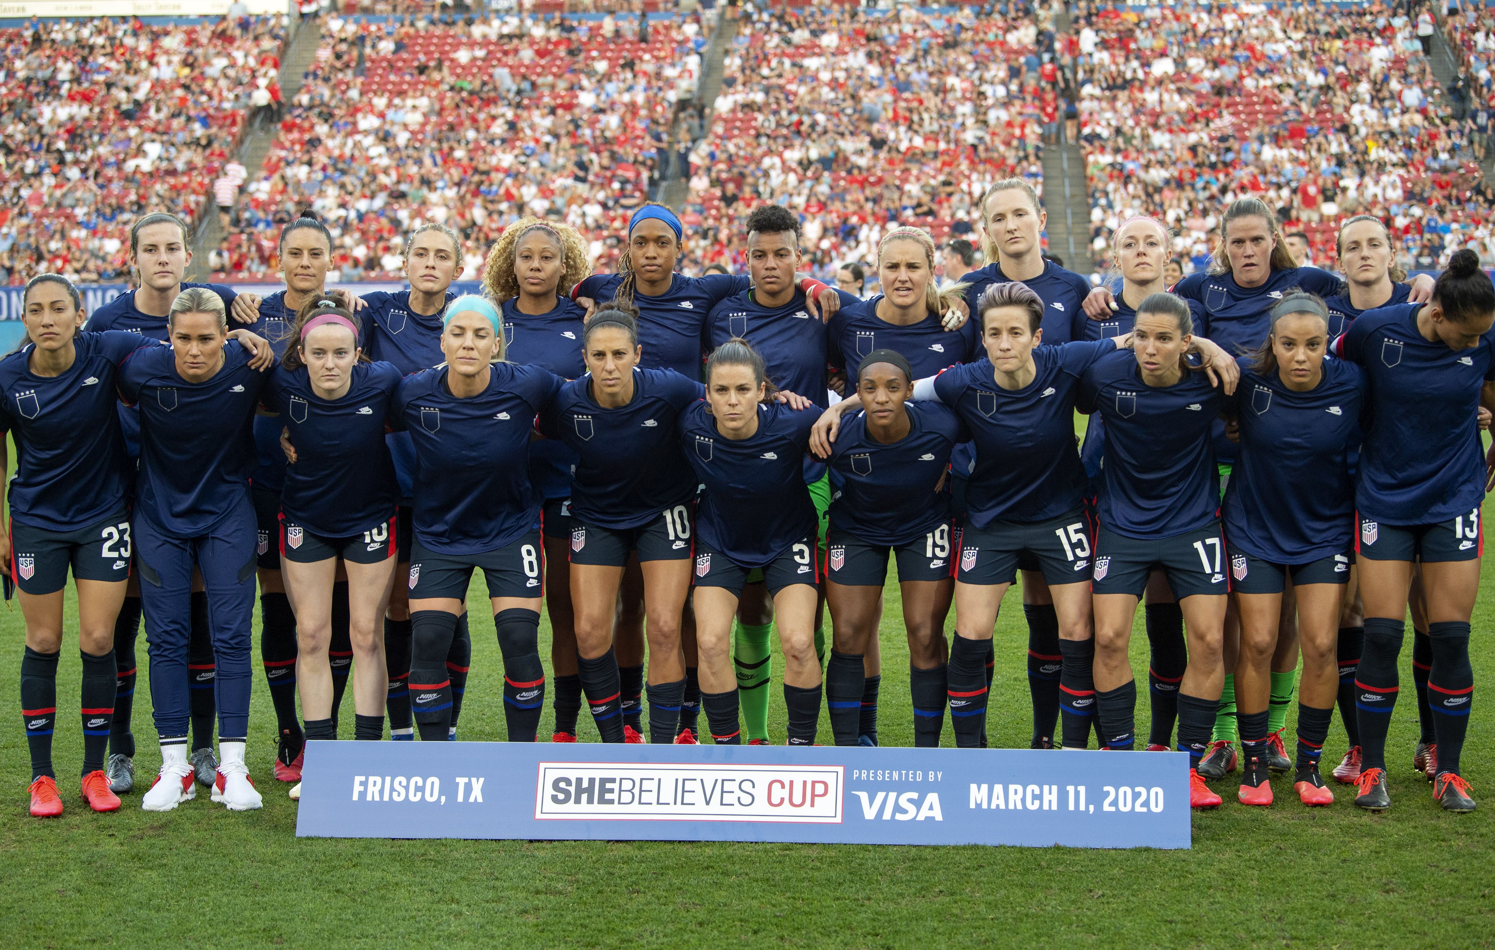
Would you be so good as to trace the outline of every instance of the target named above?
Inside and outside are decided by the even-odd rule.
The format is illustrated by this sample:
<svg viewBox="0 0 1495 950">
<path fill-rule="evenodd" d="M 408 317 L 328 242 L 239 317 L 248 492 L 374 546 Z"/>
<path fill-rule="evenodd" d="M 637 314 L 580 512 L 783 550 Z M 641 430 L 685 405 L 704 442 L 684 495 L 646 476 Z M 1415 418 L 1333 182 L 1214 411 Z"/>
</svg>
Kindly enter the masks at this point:
<svg viewBox="0 0 1495 950">
<path fill-rule="evenodd" d="M 130 578 L 130 512 L 120 509 L 88 527 L 54 532 L 10 517 L 10 565 L 15 586 L 28 594 L 57 593 L 67 586 L 67 569 L 79 581 Z"/>
</svg>

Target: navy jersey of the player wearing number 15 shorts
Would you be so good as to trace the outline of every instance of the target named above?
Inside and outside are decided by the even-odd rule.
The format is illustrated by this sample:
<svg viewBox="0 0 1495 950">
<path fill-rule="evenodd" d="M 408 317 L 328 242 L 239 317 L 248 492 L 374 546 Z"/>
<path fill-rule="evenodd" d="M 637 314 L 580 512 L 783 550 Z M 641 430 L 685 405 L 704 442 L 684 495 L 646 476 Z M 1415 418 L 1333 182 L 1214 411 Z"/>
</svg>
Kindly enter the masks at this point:
<svg viewBox="0 0 1495 950">
<path fill-rule="evenodd" d="M 966 482 L 973 526 L 1048 521 L 1079 508 L 1085 496 L 1075 451 L 1079 378 L 1114 353 L 1111 341 L 1035 347 L 1038 372 L 1021 390 L 999 387 L 988 358 L 934 378 L 934 393 L 966 423 L 976 450 Z"/>
</svg>

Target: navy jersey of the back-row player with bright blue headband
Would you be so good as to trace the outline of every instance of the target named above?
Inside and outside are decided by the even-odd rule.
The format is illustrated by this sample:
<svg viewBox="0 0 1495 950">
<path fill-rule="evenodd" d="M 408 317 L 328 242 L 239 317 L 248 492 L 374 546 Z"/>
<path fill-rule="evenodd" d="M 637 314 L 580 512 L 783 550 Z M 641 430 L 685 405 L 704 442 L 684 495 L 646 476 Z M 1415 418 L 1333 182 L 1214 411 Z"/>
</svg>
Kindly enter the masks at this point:
<svg viewBox="0 0 1495 950">
<path fill-rule="evenodd" d="M 598 306 L 611 300 L 622 285 L 620 273 L 594 273 L 571 291 L 571 299 L 591 297 Z M 733 294 L 752 287 L 745 276 L 710 273 L 703 278 L 671 275 L 670 290 L 658 297 L 647 297 L 634 290 L 634 306 L 638 308 L 638 344 L 644 348 L 640 366 L 649 369 L 673 369 L 674 372 L 701 378 L 701 326 L 712 308 Z M 806 393 L 809 396 L 809 393 Z"/>
</svg>

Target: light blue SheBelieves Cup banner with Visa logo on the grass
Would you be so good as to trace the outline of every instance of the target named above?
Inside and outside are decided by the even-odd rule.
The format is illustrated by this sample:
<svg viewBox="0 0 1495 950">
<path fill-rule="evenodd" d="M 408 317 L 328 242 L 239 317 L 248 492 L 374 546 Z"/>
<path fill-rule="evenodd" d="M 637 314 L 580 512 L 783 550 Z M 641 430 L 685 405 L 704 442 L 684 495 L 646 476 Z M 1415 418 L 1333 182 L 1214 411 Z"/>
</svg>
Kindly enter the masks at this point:
<svg viewBox="0 0 1495 950">
<path fill-rule="evenodd" d="M 296 833 L 1187 848 L 1189 756 L 312 741 Z"/>
</svg>

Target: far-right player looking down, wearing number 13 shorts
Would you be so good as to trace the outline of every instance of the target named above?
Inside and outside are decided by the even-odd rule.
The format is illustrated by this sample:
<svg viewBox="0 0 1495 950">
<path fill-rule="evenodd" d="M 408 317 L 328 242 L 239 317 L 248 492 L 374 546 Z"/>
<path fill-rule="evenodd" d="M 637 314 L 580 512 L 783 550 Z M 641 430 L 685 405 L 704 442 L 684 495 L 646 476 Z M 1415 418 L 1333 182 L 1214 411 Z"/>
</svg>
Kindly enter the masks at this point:
<svg viewBox="0 0 1495 950">
<path fill-rule="evenodd" d="M 1470 615 L 1479 594 L 1485 468 L 1474 421 L 1495 408 L 1495 287 L 1479 255 L 1449 258 L 1426 305 L 1366 311 L 1335 341 L 1335 356 L 1369 376 L 1369 426 L 1356 484 L 1356 554 L 1365 599 L 1365 651 L 1354 677 L 1360 777 L 1354 804 L 1390 807 L 1386 730 L 1396 704 L 1396 656 L 1413 562 L 1428 597 L 1429 704 L 1438 744 L 1432 796 L 1473 811 L 1459 754 L 1470 723 L 1474 672 Z"/>
</svg>

